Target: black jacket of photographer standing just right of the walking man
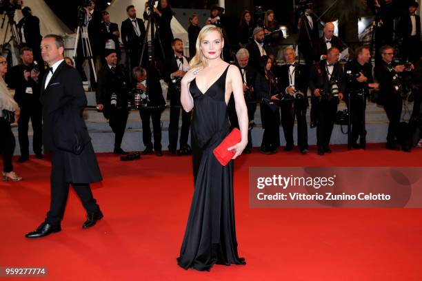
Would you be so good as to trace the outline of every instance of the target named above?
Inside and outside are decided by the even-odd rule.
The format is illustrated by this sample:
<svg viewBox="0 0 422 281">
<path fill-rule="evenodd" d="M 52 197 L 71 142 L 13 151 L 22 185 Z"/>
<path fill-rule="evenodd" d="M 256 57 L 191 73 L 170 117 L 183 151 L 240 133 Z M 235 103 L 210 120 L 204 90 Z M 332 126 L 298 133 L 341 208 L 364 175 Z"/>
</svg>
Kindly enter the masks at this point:
<svg viewBox="0 0 422 281">
<path fill-rule="evenodd" d="M 104 65 L 98 72 L 97 83 L 97 104 L 101 103 L 104 107 L 111 107 L 111 95 L 116 93 L 117 107 L 128 106 L 128 76 L 123 65 L 117 65 L 114 74 L 108 64 Z"/>
</svg>

